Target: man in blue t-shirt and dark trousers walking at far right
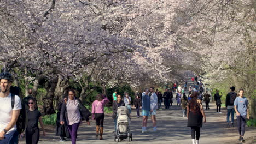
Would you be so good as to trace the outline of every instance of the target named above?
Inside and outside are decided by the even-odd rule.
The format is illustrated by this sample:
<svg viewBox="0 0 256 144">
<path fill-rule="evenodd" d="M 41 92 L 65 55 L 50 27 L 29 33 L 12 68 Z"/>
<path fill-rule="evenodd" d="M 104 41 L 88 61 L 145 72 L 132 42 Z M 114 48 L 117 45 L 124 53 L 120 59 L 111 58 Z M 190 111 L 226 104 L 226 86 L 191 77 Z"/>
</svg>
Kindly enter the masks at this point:
<svg viewBox="0 0 256 144">
<path fill-rule="evenodd" d="M 234 109 L 236 111 L 237 128 L 239 133 L 239 141 L 244 142 L 243 136 L 245 135 L 246 117 L 249 119 L 249 102 L 246 97 L 243 96 L 245 91 L 239 89 L 237 97 L 234 101 Z"/>
</svg>

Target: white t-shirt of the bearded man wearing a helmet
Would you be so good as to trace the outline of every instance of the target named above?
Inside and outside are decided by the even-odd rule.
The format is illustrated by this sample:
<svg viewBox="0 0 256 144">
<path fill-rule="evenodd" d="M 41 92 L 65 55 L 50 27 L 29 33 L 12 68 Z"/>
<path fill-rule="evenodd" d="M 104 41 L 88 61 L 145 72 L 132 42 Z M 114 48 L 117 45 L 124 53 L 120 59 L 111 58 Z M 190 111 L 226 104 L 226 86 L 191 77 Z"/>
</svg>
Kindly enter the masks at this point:
<svg viewBox="0 0 256 144">
<path fill-rule="evenodd" d="M 20 97 L 15 95 L 14 107 L 11 109 L 11 93 L 7 97 L 0 97 L 0 131 L 2 131 L 11 121 L 11 116 L 13 116 L 13 110 L 21 109 Z M 16 130 L 16 124 L 11 128 L 7 134 L 11 131 Z"/>
</svg>

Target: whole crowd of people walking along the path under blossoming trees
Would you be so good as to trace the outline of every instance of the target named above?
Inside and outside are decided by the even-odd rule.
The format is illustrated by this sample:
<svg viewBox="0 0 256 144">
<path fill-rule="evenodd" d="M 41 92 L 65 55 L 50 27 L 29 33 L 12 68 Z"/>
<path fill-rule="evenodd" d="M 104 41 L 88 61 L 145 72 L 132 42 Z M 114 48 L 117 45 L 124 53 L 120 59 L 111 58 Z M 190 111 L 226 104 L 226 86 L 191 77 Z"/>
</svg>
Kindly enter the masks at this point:
<svg viewBox="0 0 256 144">
<path fill-rule="evenodd" d="M 125 92 L 122 97 L 117 92 L 112 95 L 113 98 L 113 114 L 112 118 L 114 121 L 114 129 L 117 130 L 117 111 L 118 107 L 125 106 L 129 110 L 129 117 L 131 115 L 131 107 L 136 108 L 137 118 L 142 115 L 142 133 L 147 133 L 148 117 L 152 119 L 153 131 L 157 131 L 156 113 L 157 110 L 162 110 L 162 102 L 164 102 L 165 109 L 170 110 L 170 106 L 173 103 L 173 92 L 176 92 L 177 107 L 181 106 L 183 117 L 188 118 L 187 126 L 191 128 L 191 140 L 192 143 L 199 143 L 200 139 L 200 128 L 203 123 L 206 123 L 206 115 L 203 109 L 202 101 L 205 101 L 205 110 L 209 110 L 209 103 L 211 95 L 208 91 L 204 91 L 202 80 L 198 80 L 198 77 L 191 79 L 193 85 L 189 87 L 188 97 L 185 94 L 187 91 L 187 81 L 184 86 L 177 86 L 174 83 L 172 89 L 165 89 L 162 94 L 158 89 L 154 87 L 144 89 L 143 93 L 136 93 L 136 97 L 133 100 L 129 96 L 129 93 Z M 44 130 L 44 124 L 42 122 L 42 114 L 38 110 L 38 104 L 36 98 L 32 96 L 32 89 L 28 90 L 28 96 L 24 99 L 20 99 L 15 92 L 10 92 L 13 77 L 10 73 L 0 74 L 0 143 L 18 143 L 18 139 L 26 137 L 26 143 L 38 143 L 40 132 L 39 125 L 42 128 L 43 136 L 46 136 Z M 199 89 L 199 90 L 198 90 Z M 227 127 L 230 127 L 230 115 L 231 115 L 231 126 L 234 126 L 234 112 L 236 112 L 237 128 L 239 133 L 239 141 L 245 141 L 243 139 L 245 135 L 245 122 L 246 118 L 249 119 L 249 108 L 248 100 L 244 97 L 244 90 L 239 89 L 238 94 L 235 92 L 235 87 L 230 88 L 231 91 L 226 95 L 225 106 L 227 109 L 226 122 Z M 15 93 L 15 94 L 14 94 Z M 221 95 L 219 91 L 214 94 L 214 100 L 216 101 L 216 111 L 221 113 Z M 68 97 L 63 97 L 58 104 L 57 121 L 56 121 L 56 135 L 60 136 L 60 142 L 66 141 L 65 137 L 71 138 L 72 144 L 77 141 L 78 127 L 82 121 L 86 121 L 90 125 L 89 117 L 96 121 L 96 139 L 100 135 L 100 140 L 103 139 L 103 124 L 104 124 L 104 106 L 108 104 L 110 100 L 103 94 L 97 94 L 95 101 L 92 103 L 91 112 L 86 109 L 76 97 L 74 89 L 69 89 Z M 20 116 L 21 110 L 25 105 L 27 125 L 25 130 L 20 131 L 18 117 Z M 142 112 L 140 112 L 142 109 Z M 140 115 L 141 113 L 141 115 Z M 131 118 L 131 117 L 130 117 Z"/>
</svg>

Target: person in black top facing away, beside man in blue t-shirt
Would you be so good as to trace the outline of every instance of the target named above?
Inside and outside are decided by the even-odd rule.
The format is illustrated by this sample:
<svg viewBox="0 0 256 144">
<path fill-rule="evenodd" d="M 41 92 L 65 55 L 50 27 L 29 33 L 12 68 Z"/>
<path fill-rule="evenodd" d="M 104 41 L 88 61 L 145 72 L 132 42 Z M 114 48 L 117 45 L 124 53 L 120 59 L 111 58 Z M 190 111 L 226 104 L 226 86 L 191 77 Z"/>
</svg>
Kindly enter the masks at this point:
<svg viewBox="0 0 256 144">
<path fill-rule="evenodd" d="M 226 113 L 226 127 L 229 127 L 229 116 L 231 114 L 231 125 L 232 127 L 234 127 L 234 113 L 235 113 L 235 107 L 234 107 L 234 101 L 236 99 L 236 95 L 237 93 L 235 92 L 235 87 L 232 86 L 230 87 L 231 92 L 229 92 L 226 95 L 226 109 L 227 109 L 227 113 Z"/>
</svg>

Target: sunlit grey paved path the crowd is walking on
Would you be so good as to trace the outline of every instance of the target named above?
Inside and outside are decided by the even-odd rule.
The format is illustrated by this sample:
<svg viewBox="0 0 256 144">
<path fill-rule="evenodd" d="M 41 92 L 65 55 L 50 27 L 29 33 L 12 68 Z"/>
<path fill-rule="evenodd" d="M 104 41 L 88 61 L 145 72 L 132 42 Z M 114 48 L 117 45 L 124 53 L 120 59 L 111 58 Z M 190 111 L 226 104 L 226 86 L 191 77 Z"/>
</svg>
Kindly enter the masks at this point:
<svg viewBox="0 0 256 144">
<path fill-rule="evenodd" d="M 214 103 L 211 103 L 210 110 L 205 111 L 207 122 L 203 124 L 201 129 L 200 143 L 239 143 L 237 141 L 237 127 L 225 127 L 226 110 L 222 110 L 223 114 L 217 114 L 214 108 Z M 187 127 L 187 118 L 182 117 L 181 107 L 173 106 L 171 107 L 171 110 L 161 110 L 157 112 L 157 133 L 141 133 L 142 118 L 136 118 L 135 109 L 132 110 L 131 118 L 131 131 L 133 134 L 133 141 L 128 142 L 128 139 L 125 139 L 120 143 L 191 143 L 190 128 Z M 151 131 L 153 130 L 152 121 L 150 119 L 148 121 L 148 129 Z M 77 143 L 117 143 L 114 142 L 113 130 L 114 122 L 113 119 L 110 118 L 110 115 L 105 116 L 103 135 L 104 140 L 95 139 L 95 121 L 91 121 L 90 126 L 83 123 L 80 125 L 78 130 Z M 47 136 L 41 136 L 39 143 L 71 143 L 71 141 L 59 142 L 59 137 L 55 136 L 54 129 L 47 129 L 46 132 Z M 253 139 L 255 142 L 255 134 L 255 127 L 246 127 L 246 143 L 253 143 Z M 20 143 L 25 143 L 25 141 L 22 140 Z"/>
</svg>

